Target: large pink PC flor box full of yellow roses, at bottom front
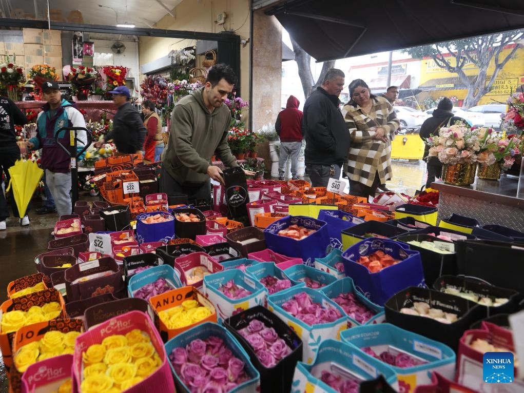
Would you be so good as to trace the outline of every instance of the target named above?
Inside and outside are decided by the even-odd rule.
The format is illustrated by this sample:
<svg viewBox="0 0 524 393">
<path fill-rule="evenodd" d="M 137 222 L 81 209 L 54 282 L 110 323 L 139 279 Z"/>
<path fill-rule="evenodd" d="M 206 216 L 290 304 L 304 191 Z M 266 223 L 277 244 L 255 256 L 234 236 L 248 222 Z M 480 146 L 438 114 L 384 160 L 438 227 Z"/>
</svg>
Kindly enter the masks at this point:
<svg viewBox="0 0 524 393">
<path fill-rule="evenodd" d="M 88 364 L 100 364 L 102 360 L 107 363 L 105 374 L 84 377 Z M 98 392 L 103 390 L 103 386 L 123 385 L 128 393 L 174 391 L 160 335 L 149 316 L 140 311 L 115 316 L 78 336 L 72 369 L 73 384 L 78 392 L 91 391 L 89 387 L 93 382 L 96 388 L 92 391 Z M 137 383 L 129 387 L 134 381 Z"/>
</svg>

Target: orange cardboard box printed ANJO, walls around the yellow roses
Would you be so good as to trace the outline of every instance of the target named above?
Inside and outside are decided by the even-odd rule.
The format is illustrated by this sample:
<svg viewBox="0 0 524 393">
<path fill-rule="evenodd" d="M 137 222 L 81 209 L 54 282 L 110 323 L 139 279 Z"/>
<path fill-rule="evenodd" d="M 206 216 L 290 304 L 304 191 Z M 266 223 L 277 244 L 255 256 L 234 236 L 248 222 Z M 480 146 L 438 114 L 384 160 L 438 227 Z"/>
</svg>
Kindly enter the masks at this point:
<svg viewBox="0 0 524 393">
<path fill-rule="evenodd" d="M 160 311 L 165 311 L 173 307 L 178 307 L 182 302 L 186 300 L 196 300 L 199 303 L 199 306 L 205 307 L 211 311 L 211 315 L 206 316 L 206 318 L 190 323 L 187 326 L 183 326 L 178 329 L 169 329 L 166 324 L 159 318 L 158 313 Z M 157 326 L 158 331 L 160 332 L 160 337 L 162 341 L 167 343 L 174 336 L 185 332 L 186 330 L 194 328 L 196 325 L 200 325 L 205 322 L 216 322 L 216 310 L 213 305 L 205 296 L 199 292 L 198 289 L 194 287 L 181 287 L 173 289 L 171 291 L 161 293 L 157 296 L 149 298 L 149 303 L 152 309 L 155 311 L 155 325 Z"/>
</svg>

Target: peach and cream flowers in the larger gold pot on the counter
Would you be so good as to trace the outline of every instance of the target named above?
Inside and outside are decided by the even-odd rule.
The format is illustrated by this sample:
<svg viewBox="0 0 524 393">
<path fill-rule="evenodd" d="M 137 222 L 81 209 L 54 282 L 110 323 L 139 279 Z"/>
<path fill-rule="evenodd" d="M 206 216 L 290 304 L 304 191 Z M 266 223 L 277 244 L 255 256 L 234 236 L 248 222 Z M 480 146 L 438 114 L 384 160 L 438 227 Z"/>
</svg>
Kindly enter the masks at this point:
<svg viewBox="0 0 524 393">
<path fill-rule="evenodd" d="M 430 146 L 429 157 L 438 157 L 440 162 L 450 165 L 474 163 L 481 151 L 479 129 L 470 128 L 462 122 L 442 127 L 438 135 L 430 136 L 425 143 Z"/>
</svg>

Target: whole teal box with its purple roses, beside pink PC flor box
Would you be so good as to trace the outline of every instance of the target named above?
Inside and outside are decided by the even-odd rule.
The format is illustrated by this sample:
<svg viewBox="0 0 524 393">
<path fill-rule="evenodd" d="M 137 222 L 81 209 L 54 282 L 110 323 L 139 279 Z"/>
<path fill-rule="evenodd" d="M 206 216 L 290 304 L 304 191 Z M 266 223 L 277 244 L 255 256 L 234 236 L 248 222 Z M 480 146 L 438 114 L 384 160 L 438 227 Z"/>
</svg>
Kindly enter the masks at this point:
<svg viewBox="0 0 524 393">
<path fill-rule="evenodd" d="M 249 356 L 219 324 L 206 322 L 173 337 L 166 351 L 178 391 L 189 393 L 191 386 L 229 393 L 260 389 L 260 375 Z"/>
</svg>

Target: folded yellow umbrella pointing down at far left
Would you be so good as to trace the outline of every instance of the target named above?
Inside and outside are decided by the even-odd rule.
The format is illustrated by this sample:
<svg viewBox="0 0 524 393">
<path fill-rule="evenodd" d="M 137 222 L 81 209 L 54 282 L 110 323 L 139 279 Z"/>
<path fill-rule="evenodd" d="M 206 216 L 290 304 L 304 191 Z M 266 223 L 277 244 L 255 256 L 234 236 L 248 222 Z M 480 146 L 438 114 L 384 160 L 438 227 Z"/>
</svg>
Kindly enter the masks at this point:
<svg viewBox="0 0 524 393">
<path fill-rule="evenodd" d="M 24 217 L 29 201 L 43 176 L 43 170 L 38 168 L 36 162 L 30 160 L 18 160 L 15 162 L 15 165 L 7 170 L 11 179 L 7 185 L 6 192 L 10 188 L 13 189 L 18 213 L 20 217 Z"/>
</svg>

